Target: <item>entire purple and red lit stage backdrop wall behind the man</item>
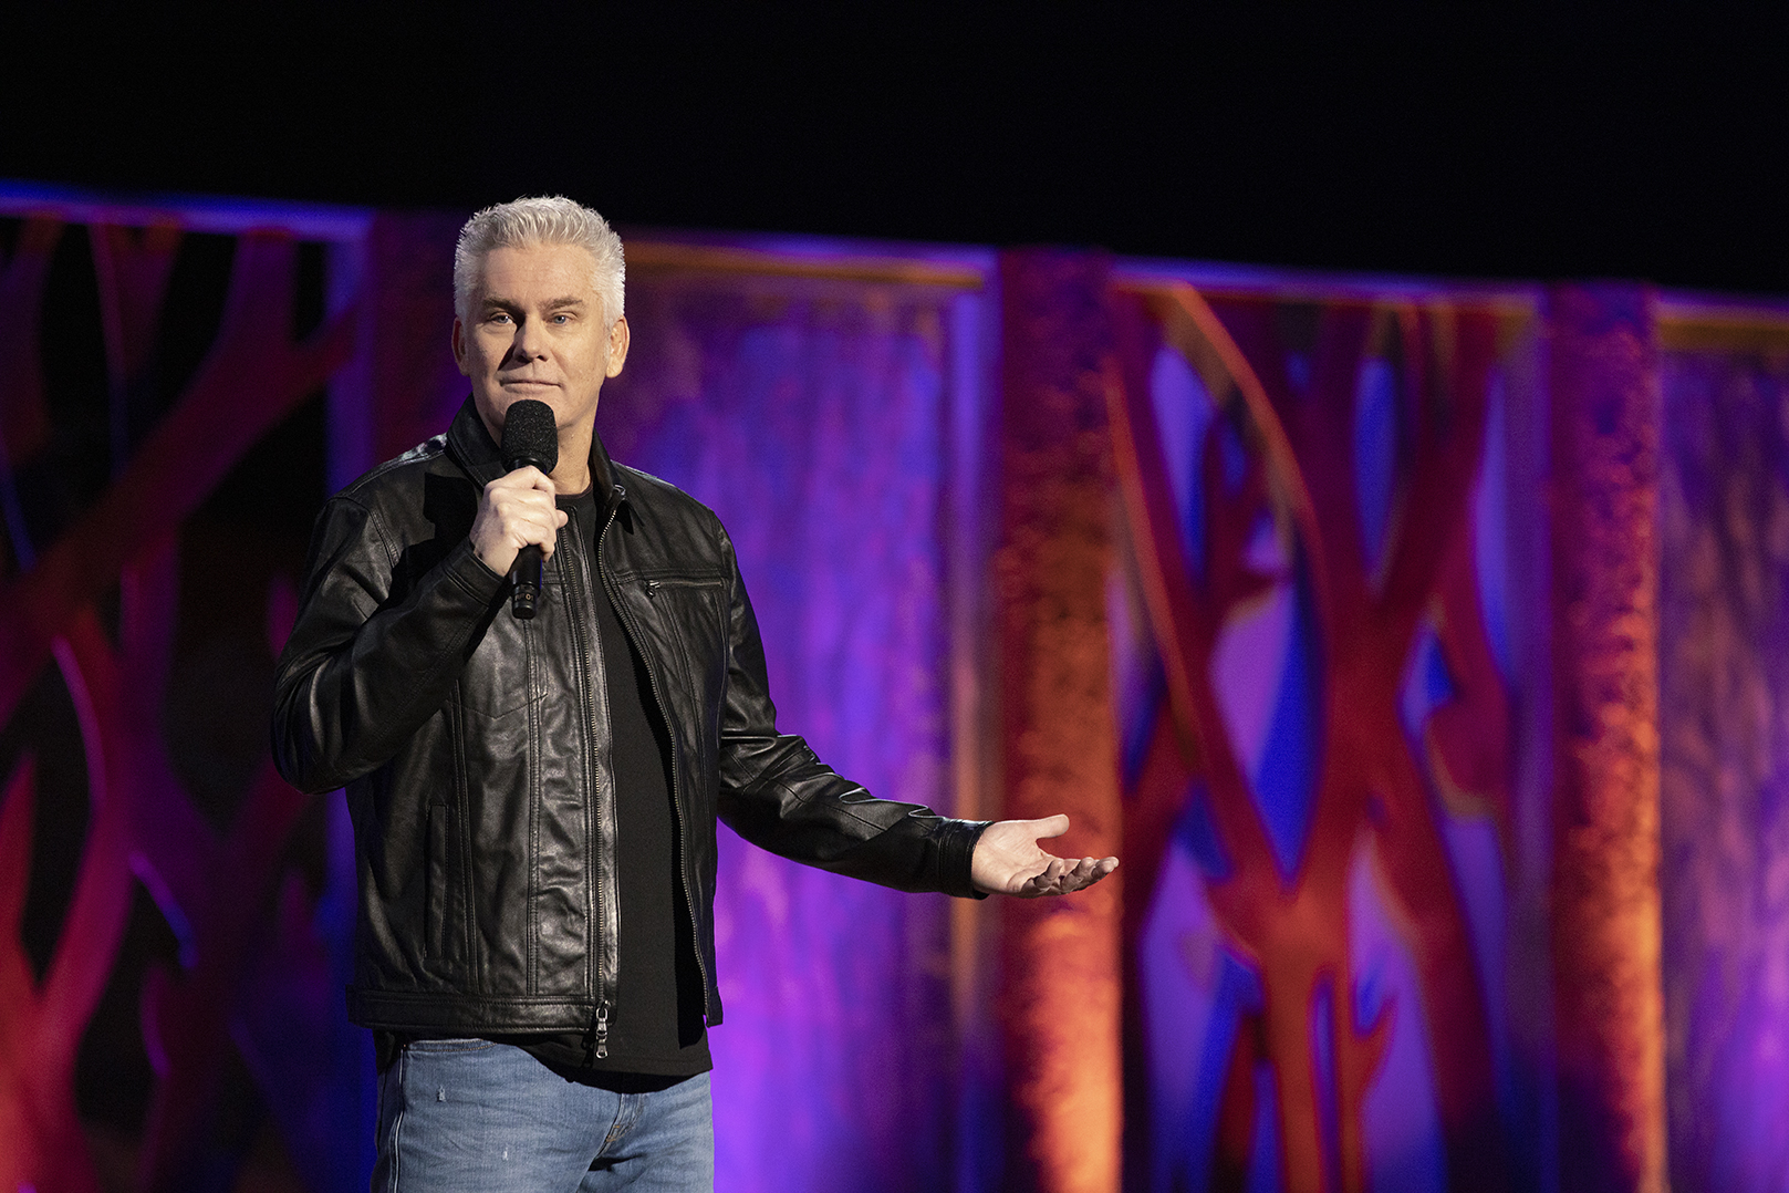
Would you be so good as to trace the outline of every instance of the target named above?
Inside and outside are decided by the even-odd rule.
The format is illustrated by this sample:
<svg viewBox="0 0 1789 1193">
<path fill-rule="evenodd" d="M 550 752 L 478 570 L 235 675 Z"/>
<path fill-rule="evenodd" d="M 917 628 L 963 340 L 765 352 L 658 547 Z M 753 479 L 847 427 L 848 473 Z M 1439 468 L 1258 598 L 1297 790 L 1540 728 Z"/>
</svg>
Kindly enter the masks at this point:
<svg viewBox="0 0 1789 1193">
<path fill-rule="evenodd" d="M 365 1188 L 268 685 L 322 497 L 465 393 L 460 218 L 0 193 L 0 1189 Z M 598 427 L 782 724 L 1123 857 L 723 830 L 721 1188 L 1780 1188 L 1782 308 L 624 233 Z"/>
</svg>

